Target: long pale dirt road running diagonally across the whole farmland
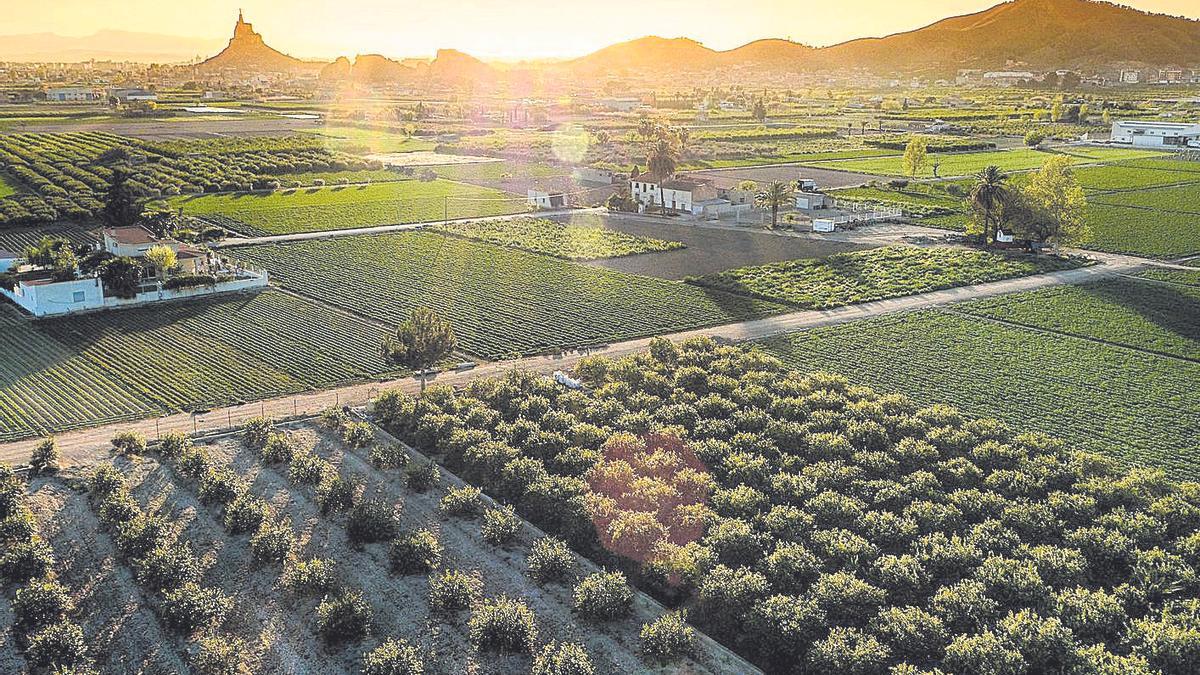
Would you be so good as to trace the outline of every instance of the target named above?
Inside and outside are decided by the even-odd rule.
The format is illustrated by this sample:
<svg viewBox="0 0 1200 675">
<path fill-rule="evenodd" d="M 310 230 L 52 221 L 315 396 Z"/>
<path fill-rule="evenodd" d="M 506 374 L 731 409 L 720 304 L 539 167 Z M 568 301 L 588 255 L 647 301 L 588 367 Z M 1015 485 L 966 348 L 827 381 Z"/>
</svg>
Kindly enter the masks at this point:
<svg viewBox="0 0 1200 675">
<path fill-rule="evenodd" d="M 666 335 L 666 338 L 682 341 L 695 336 L 709 336 L 731 341 L 757 340 L 773 335 L 793 333 L 808 328 L 832 325 L 871 318 L 896 312 L 924 310 L 1007 293 L 1019 293 L 1033 291 L 1049 286 L 1063 283 L 1086 283 L 1109 276 L 1130 274 L 1139 268 L 1152 264 L 1151 261 L 1134 258 L 1129 256 L 1094 255 L 1100 264 L 1021 279 L 1010 279 L 977 286 L 965 286 L 961 288 L 949 288 L 935 291 L 906 298 L 893 298 L 889 300 L 877 300 L 845 307 L 818 311 L 796 311 L 769 318 L 746 321 L 716 325 L 698 330 L 689 330 Z M 431 378 L 431 382 L 443 384 L 463 384 L 476 377 L 488 377 L 502 375 L 509 370 L 534 370 L 539 372 L 553 372 L 571 368 L 581 358 L 588 354 L 601 354 L 606 357 L 622 357 L 644 351 L 650 342 L 649 338 L 617 342 L 604 347 L 598 347 L 586 352 L 568 352 L 563 354 L 538 356 L 510 362 L 496 362 L 480 365 L 472 370 L 439 374 Z M 390 382 L 374 382 L 341 387 L 325 392 L 316 392 L 298 396 L 272 399 L 244 406 L 232 406 L 215 410 L 204 414 L 173 414 L 157 419 L 144 419 L 140 422 L 128 422 L 97 426 L 79 431 L 70 431 L 58 436 L 59 447 L 62 450 L 65 464 L 92 464 L 97 458 L 106 456 L 108 441 L 118 431 L 137 430 L 146 436 L 154 437 L 166 431 L 216 430 L 236 426 L 252 417 L 265 414 L 269 417 L 290 417 L 295 414 L 314 414 L 332 405 L 365 405 L 383 388 L 401 388 L 408 392 L 418 392 L 420 388 L 415 378 L 395 380 Z M 24 462 L 36 440 L 18 441 L 0 446 L 0 461 Z"/>
</svg>

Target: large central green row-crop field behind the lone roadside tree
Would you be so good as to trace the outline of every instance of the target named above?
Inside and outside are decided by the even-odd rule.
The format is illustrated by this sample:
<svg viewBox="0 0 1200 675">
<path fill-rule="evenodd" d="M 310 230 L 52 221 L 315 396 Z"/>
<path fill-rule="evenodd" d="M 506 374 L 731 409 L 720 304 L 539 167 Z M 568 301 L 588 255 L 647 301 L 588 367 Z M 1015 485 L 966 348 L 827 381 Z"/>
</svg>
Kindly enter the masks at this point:
<svg viewBox="0 0 1200 675">
<path fill-rule="evenodd" d="M 398 324 L 427 306 L 460 346 L 500 359 L 731 323 L 778 304 L 432 232 L 234 250 L 283 287 Z"/>
</svg>

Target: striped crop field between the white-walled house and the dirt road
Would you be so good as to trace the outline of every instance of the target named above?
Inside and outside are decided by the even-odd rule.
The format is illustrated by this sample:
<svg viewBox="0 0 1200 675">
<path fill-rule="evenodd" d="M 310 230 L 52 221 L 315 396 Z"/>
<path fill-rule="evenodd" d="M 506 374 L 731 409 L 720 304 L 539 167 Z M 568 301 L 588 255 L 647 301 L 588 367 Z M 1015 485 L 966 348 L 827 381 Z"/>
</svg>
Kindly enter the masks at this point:
<svg viewBox="0 0 1200 675">
<path fill-rule="evenodd" d="M 0 440 L 395 374 L 382 339 L 274 291 L 36 322 L 0 305 Z"/>
</svg>

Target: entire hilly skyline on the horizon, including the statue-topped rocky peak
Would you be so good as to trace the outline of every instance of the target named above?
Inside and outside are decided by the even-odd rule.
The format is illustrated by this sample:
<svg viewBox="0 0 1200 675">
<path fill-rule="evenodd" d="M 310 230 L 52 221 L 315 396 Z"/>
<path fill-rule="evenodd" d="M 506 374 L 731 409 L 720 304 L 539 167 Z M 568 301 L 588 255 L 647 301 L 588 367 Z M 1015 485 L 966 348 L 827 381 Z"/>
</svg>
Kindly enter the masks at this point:
<svg viewBox="0 0 1200 675">
<path fill-rule="evenodd" d="M 120 31 L 83 38 L 0 37 L 0 59 L 7 60 L 70 60 L 68 54 L 116 59 L 115 54 L 120 54 L 126 60 L 182 61 L 191 58 L 182 54 L 211 53 L 212 48 L 211 41 Z M 175 58 L 158 59 L 158 54 Z M 971 67 L 1048 71 L 1115 65 L 1200 67 L 1200 20 L 1092 0 L 1012 0 L 913 31 L 832 47 L 760 40 L 719 52 L 683 37 L 642 37 L 578 59 L 522 67 L 571 76 L 718 68 L 775 72 L 864 68 L 878 74 L 949 74 Z M 401 62 L 378 54 L 360 55 L 354 62 L 346 58 L 332 64 L 304 61 L 270 48 L 240 16 L 229 44 L 202 66 L 212 71 L 319 71 L 325 79 L 358 82 L 426 77 L 487 80 L 504 70 L 450 49 L 439 52 L 431 64 Z"/>
</svg>

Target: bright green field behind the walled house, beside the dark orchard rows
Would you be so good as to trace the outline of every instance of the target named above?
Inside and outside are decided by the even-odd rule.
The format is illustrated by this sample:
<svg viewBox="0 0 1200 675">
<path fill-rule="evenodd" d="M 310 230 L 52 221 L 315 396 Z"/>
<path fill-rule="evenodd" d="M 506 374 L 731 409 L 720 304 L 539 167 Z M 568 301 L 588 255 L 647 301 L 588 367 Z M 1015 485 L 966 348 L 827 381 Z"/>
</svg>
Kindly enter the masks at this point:
<svg viewBox="0 0 1200 675">
<path fill-rule="evenodd" d="M 449 180 L 402 180 L 349 187 L 310 187 L 271 193 L 209 195 L 172 201 L 185 214 L 218 215 L 253 234 L 290 234 L 485 217 L 528 209 L 523 198 Z"/>
</svg>

